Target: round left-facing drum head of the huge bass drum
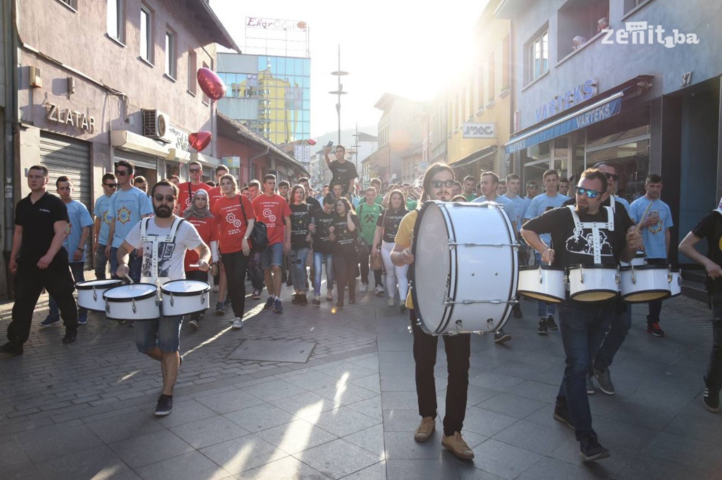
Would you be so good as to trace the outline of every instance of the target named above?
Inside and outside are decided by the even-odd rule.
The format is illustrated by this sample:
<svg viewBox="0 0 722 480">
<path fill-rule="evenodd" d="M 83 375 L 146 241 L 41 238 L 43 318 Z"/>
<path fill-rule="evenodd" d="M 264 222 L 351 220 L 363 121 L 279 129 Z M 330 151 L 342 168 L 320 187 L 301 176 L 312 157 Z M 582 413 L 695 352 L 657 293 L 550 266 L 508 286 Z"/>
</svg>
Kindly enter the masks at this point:
<svg viewBox="0 0 722 480">
<path fill-rule="evenodd" d="M 444 301 L 448 295 L 448 275 L 451 275 L 448 239 L 441 208 L 436 203 L 427 202 L 419 213 L 414 231 L 412 295 L 417 317 L 430 332 L 438 329 L 447 308 Z"/>
</svg>

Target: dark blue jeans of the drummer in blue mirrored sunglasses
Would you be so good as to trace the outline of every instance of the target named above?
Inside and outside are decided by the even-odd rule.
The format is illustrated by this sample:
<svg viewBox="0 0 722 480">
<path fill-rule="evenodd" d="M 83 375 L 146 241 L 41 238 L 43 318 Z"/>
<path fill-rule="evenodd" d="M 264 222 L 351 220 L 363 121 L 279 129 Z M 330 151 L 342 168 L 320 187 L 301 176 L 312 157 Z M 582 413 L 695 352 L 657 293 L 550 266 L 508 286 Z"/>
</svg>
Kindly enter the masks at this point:
<svg viewBox="0 0 722 480">
<path fill-rule="evenodd" d="M 616 303 L 567 301 L 559 306 L 559 329 L 566 358 L 564 378 L 557 396 L 557 406 L 566 404 L 577 440 L 596 438 L 591 427 L 591 411 L 586 393 L 589 359 L 601 345 L 604 333 L 614 316 Z"/>
</svg>

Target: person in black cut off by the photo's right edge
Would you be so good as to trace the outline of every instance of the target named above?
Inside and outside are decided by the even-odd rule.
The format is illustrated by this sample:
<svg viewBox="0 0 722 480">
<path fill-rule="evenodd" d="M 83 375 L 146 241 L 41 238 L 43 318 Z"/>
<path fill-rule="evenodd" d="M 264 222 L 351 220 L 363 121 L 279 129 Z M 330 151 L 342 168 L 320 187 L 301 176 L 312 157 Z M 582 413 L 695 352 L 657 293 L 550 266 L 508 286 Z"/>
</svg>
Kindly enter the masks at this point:
<svg viewBox="0 0 722 480">
<path fill-rule="evenodd" d="M 707 257 L 695 249 L 702 239 L 707 239 Z M 718 412 L 722 389 L 722 210 L 712 210 L 705 215 L 679 244 L 679 253 L 705 267 L 707 272 L 705 283 L 712 305 L 713 334 L 702 400 L 706 409 Z"/>
</svg>

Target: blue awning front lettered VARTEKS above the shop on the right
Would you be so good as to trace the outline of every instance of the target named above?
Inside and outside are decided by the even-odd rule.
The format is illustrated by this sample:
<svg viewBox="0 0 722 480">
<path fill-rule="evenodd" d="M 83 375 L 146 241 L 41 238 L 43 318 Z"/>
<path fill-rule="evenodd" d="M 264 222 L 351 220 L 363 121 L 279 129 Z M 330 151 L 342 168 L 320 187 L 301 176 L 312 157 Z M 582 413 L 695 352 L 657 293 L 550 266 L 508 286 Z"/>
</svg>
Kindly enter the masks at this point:
<svg viewBox="0 0 722 480">
<path fill-rule="evenodd" d="M 579 130 L 593 123 L 598 123 L 609 117 L 613 117 L 622 110 L 623 96 L 624 92 L 617 92 L 577 112 L 565 115 L 559 120 L 554 120 L 554 122 L 541 125 L 539 128 L 524 133 L 517 138 L 512 138 L 509 143 L 505 145 L 506 154 L 513 154 L 524 148 L 534 146 L 537 143 L 566 135 L 574 130 Z"/>
</svg>

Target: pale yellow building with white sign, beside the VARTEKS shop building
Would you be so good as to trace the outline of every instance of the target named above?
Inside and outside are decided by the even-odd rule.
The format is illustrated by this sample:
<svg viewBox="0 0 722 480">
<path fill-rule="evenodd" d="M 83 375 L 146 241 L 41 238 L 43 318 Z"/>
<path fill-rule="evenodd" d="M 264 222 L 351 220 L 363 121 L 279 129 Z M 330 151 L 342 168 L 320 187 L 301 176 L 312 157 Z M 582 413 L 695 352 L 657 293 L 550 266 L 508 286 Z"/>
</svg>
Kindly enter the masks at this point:
<svg viewBox="0 0 722 480">
<path fill-rule="evenodd" d="M 491 170 L 507 172 L 504 144 L 513 119 L 511 24 L 495 19 L 492 0 L 474 28 L 474 50 L 466 77 L 450 86 L 447 99 L 448 164 L 457 179 Z"/>
</svg>

